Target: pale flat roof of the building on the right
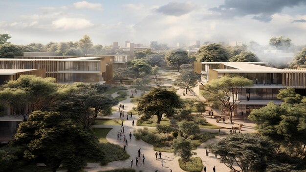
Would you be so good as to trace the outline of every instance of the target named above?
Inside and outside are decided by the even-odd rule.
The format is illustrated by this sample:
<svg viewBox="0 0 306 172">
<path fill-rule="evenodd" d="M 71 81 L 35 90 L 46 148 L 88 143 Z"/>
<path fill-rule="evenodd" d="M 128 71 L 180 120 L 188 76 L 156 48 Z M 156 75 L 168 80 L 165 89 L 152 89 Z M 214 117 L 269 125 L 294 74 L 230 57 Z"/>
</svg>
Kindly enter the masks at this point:
<svg viewBox="0 0 306 172">
<path fill-rule="evenodd" d="M 261 64 L 267 64 L 264 62 L 202 62 L 202 64 L 224 64 L 224 66 L 236 68 L 236 69 L 213 69 L 218 73 L 288 73 L 288 72 L 306 73 L 305 70 L 277 69 L 267 66 L 261 66 Z"/>
</svg>

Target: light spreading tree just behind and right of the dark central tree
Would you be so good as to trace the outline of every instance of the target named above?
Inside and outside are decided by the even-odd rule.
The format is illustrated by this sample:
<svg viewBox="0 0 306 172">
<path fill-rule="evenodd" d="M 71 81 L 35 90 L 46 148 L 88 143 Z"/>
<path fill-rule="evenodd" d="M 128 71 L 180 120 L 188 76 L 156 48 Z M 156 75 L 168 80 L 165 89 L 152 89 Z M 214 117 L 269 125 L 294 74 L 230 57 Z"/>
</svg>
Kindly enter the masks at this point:
<svg viewBox="0 0 306 172">
<path fill-rule="evenodd" d="M 182 70 L 180 74 L 178 75 L 177 79 L 173 82 L 173 85 L 177 85 L 180 88 L 190 90 L 191 88 L 194 88 L 197 86 L 197 82 L 201 75 L 194 73 L 193 71 L 188 70 Z"/>
</svg>

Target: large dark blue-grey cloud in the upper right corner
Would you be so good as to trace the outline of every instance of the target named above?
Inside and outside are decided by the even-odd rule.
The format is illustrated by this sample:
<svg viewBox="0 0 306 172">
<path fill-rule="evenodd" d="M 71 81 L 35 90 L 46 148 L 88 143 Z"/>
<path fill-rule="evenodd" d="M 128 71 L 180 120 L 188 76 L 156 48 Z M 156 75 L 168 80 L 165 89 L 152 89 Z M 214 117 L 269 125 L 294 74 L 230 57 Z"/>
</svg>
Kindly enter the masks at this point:
<svg viewBox="0 0 306 172">
<path fill-rule="evenodd" d="M 254 15 L 252 19 L 270 22 L 272 15 L 281 13 L 284 7 L 306 4 L 306 0 L 225 0 L 219 7 L 211 8 L 219 17 L 234 18 Z"/>
</svg>

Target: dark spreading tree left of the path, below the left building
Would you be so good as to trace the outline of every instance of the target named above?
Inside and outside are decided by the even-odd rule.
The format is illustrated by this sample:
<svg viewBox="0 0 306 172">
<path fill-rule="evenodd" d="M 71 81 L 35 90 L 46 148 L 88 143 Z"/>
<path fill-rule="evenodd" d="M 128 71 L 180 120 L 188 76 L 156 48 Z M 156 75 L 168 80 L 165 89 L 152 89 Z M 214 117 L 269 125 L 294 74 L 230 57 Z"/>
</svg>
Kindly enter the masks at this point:
<svg viewBox="0 0 306 172">
<path fill-rule="evenodd" d="M 59 110 L 69 114 L 84 129 L 94 124 L 100 112 L 109 114 L 111 107 L 118 103 L 110 95 L 98 94 L 97 90 L 83 83 L 72 84 L 68 89 L 68 93 L 59 105 Z"/>
</svg>

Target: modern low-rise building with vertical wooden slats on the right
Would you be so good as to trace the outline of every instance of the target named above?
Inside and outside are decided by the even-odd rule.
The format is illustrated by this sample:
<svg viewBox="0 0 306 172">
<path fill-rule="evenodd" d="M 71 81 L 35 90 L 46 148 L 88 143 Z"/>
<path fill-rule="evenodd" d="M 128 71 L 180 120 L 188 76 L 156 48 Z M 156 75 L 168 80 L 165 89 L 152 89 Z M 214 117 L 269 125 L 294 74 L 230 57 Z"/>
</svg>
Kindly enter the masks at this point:
<svg viewBox="0 0 306 172">
<path fill-rule="evenodd" d="M 253 86 L 241 89 L 236 115 L 249 114 L 252 109 L 261 108 L 270 101 L 281 104 L 277 94 L 286 87 L 293 87 L 297 93 L 306 95 L 306 70 L 277 69 L 266 65 L 263 62 L 195 62 L 194 71 L 202 75 L 201 85 L 226 75 L 239 75 L 253 81 Z"/>
</svg>

